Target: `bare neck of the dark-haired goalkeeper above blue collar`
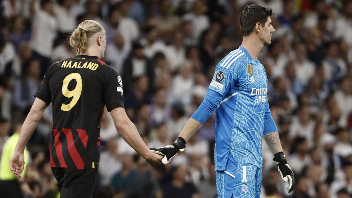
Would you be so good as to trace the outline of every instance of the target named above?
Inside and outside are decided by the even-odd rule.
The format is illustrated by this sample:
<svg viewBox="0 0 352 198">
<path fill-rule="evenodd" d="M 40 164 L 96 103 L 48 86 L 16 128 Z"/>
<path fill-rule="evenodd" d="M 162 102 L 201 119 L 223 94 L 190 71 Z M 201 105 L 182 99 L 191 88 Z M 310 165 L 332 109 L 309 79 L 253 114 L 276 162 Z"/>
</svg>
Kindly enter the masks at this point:
<svg viewBox="0 0 352 198">
<path fill-rule="evenodd" d="M 260 50 L 264 47 L 264 44 L 262 41 L 259 40 L 257 35 L 252 33 L 249 36 L 243 37 L 243 41 L 242 41 L 241 46 L 246 48 L 246 50 L 249 52 L 251 57 L 257 61 L 258 54 L 259 54 Z"/>
</svg>

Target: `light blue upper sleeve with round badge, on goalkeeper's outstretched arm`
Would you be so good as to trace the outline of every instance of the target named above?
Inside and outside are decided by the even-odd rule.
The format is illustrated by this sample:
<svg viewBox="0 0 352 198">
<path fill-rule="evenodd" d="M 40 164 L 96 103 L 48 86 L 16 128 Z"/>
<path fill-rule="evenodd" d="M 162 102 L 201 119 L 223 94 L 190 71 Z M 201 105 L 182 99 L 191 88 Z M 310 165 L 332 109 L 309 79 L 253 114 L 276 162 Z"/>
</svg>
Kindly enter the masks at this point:
<svg viewBox="0 0 352 198">
<path fill-rule="evenodd" d="M 234 85 L 234 81 L 237 79 L 235 72 L 222 67 L 222 62 L 215 68 L 215 74 L 212 81 L 210 82 L 209 89 L 220 93 L 222 97 L 231 90 Z"/>
</svg>

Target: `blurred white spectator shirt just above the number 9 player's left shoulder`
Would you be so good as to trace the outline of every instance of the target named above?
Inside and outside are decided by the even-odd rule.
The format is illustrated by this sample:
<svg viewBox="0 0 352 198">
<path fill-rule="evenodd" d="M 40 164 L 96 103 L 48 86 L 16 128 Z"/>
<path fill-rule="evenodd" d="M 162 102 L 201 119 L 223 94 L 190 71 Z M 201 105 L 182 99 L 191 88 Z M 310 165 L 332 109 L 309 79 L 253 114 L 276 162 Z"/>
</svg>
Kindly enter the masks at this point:
<svg viewBox="0 0 352 198">
<path fill-rule="evenodd" d="M 50 57 L 56 36 L 55 18 L 38 10 L 33 19 L 31 47 L 38 54 Z"/>
</svg>

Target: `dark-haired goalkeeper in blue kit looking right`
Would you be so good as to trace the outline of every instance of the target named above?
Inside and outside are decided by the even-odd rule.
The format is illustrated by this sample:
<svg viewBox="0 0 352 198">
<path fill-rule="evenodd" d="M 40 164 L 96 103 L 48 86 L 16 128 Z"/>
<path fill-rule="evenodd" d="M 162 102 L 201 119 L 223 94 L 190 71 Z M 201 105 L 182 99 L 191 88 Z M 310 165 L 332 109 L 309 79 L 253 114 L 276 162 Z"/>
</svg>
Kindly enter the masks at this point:
<svg viewBox="0 0 352 198">
<path fill-rule="evenodd" d="M 241 46 L 216 66 L 208 92 L 173 144 L 151 148 L 169 160 L 215 110 L 215 171 L 219 198 L 259 198 L 262 185 L 262 142 L 278 166 L 287 192 L 295 186 L 267 100 L 268 78 L 257 56 L 275 32 L 270 8 L 248 5 L 241 12 Z"/>
</svg>

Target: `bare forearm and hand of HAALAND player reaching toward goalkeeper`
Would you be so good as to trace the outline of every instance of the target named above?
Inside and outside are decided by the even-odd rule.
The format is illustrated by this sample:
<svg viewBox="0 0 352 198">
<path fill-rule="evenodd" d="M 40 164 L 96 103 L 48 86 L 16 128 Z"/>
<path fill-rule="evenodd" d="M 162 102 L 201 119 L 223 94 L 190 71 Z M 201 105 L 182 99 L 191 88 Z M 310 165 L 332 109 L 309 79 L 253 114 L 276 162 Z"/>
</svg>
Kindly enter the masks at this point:
<svg viewBox="0 0 352 198">
<path fill-rule="evenodd" d="M 142 138 L 138 134 L 136 126 L 127 117 L 125 109 L 123 107 L 117 107 L 110 112 L 117 131 L 121 137 L 130 145 L 134 150 L 137 151 L 144 159 L 150 163 L 151 166 L 160 165 L 163 157 L 161 155 L 154 154 L 143 142 Z"/>
</svg>

